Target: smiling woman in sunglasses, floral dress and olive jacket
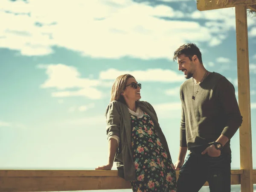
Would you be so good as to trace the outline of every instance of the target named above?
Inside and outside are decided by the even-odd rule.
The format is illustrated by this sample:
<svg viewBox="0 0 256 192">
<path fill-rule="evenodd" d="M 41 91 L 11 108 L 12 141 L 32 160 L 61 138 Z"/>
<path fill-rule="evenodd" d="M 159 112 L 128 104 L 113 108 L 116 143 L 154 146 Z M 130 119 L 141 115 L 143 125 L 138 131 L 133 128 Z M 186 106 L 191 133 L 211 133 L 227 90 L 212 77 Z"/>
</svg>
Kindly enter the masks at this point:
<svg viewBox="0 0 256 192">
<path fill-rule="evenodd" d="M 108 164 L 117 162 L 119 177 L 131 181 L 134 192 L 176 192 L 176 174 L 157 114 L 140 101 L 141 84 L 125 74 L 116 78 L 105 117 L 109 145 Z"/>
</svg>

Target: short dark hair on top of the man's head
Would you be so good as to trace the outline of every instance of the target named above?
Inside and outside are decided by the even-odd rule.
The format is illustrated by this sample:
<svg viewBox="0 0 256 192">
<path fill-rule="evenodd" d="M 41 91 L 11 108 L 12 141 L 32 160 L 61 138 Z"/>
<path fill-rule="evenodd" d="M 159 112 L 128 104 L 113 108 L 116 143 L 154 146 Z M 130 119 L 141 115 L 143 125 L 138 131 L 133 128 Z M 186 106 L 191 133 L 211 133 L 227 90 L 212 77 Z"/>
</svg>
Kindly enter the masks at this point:
<svg viewBox="0 0 256 192">
<path fill-rule="evenodd" d="M 184 54 L 186 57 L 192 61 L 192 57 L 196 55 L 199 59 L 199 62 L 203 64 L 202 61 L 202 54 L 200 52 L 200 49 L 196 46 L 196 44 L 188 43 L 183 44 L 180 46 L 176 51 L 174 52 L 173 61 L 176 61 L 178 59 L 178 56 Z"/>
</svg>

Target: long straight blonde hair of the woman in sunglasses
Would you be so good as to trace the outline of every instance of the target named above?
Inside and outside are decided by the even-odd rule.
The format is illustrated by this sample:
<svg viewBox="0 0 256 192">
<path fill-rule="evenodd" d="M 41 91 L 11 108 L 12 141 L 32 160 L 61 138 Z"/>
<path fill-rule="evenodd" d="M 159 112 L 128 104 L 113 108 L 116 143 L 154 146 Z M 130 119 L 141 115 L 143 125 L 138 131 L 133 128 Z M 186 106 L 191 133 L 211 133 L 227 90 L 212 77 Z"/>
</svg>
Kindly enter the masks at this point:
<svg viewBox="0 0 256 192">
<path fill-rule="evenodd" d="M 114 81 L 111 89 L 111 99 L 112 101 L 119 101 L 126 104 L 124 97 L 121 95 L 122 91 L 125 89 L 125 85 L 129 78 L 134 78 L 134 76 L 130 74 L 125 74 L 118 76 Z M 135 78 L 134 78 L 135 79 Z"/>
</svg>

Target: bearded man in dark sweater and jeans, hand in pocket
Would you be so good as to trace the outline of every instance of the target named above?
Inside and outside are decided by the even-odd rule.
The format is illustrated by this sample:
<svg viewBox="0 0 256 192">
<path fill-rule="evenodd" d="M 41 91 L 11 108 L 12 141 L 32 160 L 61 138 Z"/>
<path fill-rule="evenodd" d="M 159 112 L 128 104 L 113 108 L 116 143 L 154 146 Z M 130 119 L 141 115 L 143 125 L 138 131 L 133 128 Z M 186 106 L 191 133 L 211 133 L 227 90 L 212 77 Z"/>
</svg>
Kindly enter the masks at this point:
<svg viewBox="0 0 256 192">
<path fill-rule="evenodd" d="M 198 192 L 206 181 L 210 192 L 230 192 L 230 139 L 242 123 L 235 88 L 221 74 L 204 68 L 195 44 L 180 46 L 173 59 L 188 79 L 180 86 L 177 192 Z"/>
</svg>

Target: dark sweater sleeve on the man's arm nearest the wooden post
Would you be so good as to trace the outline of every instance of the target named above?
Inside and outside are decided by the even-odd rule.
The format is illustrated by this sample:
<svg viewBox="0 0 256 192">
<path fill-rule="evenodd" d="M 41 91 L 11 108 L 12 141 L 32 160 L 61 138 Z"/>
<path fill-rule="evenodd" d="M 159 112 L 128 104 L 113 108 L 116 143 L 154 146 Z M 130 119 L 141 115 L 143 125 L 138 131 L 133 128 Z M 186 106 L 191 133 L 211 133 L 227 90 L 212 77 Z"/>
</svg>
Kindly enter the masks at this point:
<svg viewBox="0 0 256 192">
<path fill-rule="evenodd" d="M 221 134 L 229 139 L 233 137 L 242 123 L 242 116 L 236 100 L 235 88 L 225 77 L 218 82 L 218 100 L 227 119 Z"/>
</svg>

